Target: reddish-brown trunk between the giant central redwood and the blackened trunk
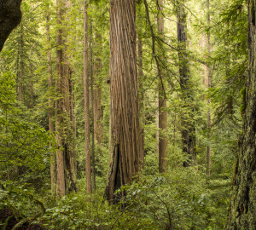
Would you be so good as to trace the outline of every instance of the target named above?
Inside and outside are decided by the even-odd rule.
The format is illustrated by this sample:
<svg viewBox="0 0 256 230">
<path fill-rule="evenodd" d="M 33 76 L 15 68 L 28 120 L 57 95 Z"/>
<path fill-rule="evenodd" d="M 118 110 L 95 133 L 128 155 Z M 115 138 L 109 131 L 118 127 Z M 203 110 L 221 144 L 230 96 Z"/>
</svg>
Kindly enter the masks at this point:
<svg viewBox="0 0 256 230">
<path fill-rule="evenodd" d="M 163 10 L 163 1 L 158 1 L 160 5 L 160 11 Z M 162 39 L 165 38 L 164 36 L 164 18 L 162 14 L 158 14 L 157 18 L 157 26 L 158 32 Z M 164 57 L 162 56 L 162 59 Z M 159 171 L 160 173 L 165 172 L 167 170 L 167 112 L 166 112 L 166 96 L 165 96 L 165 89 L 164 89 L 164 80 L 165 80 L 165 71 L 160 68 L 158 71 L 159 75 L 159 82 L 158 82 L 158 90 L 159 90 L 159 102 L 158 102 L 158 111 L 159 111 L 159 129 L 160 129 L 160 138 L 159 138 Z"/>
</svg>

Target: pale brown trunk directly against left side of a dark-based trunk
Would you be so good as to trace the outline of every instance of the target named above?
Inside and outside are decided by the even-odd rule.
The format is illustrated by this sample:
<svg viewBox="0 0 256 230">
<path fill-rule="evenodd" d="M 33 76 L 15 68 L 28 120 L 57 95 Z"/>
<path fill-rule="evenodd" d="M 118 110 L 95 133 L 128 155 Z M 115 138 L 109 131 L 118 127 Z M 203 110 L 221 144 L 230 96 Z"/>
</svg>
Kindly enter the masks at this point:
<svg viewBox="0 0 256 230">
<path fill-rule="evenodd" d="M 63 49 L 62 49 L 62 2 L 61 0 L 56 0 L 57 5 L 57 24 L 59 26 L 57 30 L 57 51 L 56 51 L 56 68 L 57 68 L 57 78 L 56 78 L 56 93 L 58 99 L 55 102 L 55 130 L 56 130 L 56 140 L 58 143 L 58 150 L 56 152 L 56 171 L 57 171 L 57 190 L 58 194 L 62 197 L 66 194 L 65 189 L 65 174 L 64 174 L 64 152 L 62 149 L 62 108 L 64 106 L 63 99 L 61 98 L 63 92 L 61 89 L 61 79 L 63 78 Z"/>
</svg>

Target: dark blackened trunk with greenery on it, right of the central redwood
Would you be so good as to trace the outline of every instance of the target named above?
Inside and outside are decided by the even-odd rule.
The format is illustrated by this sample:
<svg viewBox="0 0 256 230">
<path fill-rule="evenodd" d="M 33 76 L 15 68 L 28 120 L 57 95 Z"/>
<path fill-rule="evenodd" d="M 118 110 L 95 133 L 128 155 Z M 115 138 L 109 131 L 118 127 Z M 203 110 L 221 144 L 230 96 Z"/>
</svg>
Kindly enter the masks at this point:
<svg viewBox="0 0 256 230">
<path fill-rule="evenodd" d="M 193 90 L 190 83 L 189 60 L 187 55 L 187 26 L 186 12 L 183 3 L 177 5 L 177 42 L 180 87 L 183 94 L 183 118 L 182 118 L 182 141 L 183 152 L 188 155 L 189 160 L 183 162 L 183 166 L 196 164 L 195 153 L 195 121 L 193 104 Z"/>
</svg>

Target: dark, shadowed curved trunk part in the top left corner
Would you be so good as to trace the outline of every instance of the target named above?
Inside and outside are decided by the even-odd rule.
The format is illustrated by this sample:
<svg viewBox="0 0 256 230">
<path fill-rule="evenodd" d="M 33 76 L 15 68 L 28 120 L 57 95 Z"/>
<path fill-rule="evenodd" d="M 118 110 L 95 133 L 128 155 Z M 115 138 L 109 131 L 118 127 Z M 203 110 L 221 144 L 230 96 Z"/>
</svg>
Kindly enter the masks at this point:
<svg viewBox="0 0 256 230">
<path fill-rule="evenodd" d="M 21 20 L 21 0 L 0 0 L 0 52 L 7 37 Z"/>
</svg>

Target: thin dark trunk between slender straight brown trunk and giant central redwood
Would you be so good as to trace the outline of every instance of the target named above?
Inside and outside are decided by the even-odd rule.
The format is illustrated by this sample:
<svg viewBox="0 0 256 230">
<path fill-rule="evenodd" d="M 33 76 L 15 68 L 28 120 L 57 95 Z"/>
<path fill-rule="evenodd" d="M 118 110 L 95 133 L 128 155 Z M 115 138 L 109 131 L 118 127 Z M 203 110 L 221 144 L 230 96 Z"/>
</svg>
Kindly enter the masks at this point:
<svg viewBox="0 0 256 230">
<path fill-rule="evenodd" d="M 96 190 L 95 179 L 95 122 L 94 122 L 94 80 L 93 80 L 93 55 L 92 55 L 92 22 L 90 18 L 90 100 L 91 100 L 91 187 L 92 191 Z"/>
</svg>

